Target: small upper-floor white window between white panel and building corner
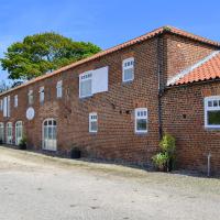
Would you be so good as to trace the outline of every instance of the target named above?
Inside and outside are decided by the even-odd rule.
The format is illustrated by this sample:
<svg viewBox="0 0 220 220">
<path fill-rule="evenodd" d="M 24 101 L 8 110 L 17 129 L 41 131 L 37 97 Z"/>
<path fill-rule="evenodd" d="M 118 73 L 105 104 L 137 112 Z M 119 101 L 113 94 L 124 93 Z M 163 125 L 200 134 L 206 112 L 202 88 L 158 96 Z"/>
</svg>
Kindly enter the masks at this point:
<svg viewBox="0 0 220 220">
<path fill-rule="evenodd" d="M 134 58 L 127 58 L 122 63 L 123 81 L 131 81 L 134 79 Z"/>
</svg>

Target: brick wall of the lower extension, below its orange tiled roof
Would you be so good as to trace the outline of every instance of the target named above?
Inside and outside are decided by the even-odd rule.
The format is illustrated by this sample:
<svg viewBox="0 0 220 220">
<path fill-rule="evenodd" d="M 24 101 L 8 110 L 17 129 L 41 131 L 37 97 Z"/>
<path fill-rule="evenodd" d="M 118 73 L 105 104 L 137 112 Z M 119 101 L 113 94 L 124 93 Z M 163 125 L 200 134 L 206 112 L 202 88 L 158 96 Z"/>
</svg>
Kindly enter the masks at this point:
<svg viewBox="0 0 220 220">
<path fill-rule="evenodd" d="M 211 172 L 220 173 L 220 130 L 205 128 L 204 99 L 220 95 L 219 82 L 176 87 L 163 97 L 163 129 L 176 138 L 177 165 L 207 172 L 210 152 Z"/>
</svg>

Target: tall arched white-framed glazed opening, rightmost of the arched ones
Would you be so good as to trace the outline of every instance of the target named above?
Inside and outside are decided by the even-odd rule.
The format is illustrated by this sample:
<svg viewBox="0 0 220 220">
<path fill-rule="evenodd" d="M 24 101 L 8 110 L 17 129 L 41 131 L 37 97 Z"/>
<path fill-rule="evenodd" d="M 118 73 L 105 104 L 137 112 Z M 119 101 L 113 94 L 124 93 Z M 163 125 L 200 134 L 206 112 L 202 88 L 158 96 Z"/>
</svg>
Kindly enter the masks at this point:
<svg viewBox="0 0 220 220">
<path fill-rule="evenodd" d="M 50 129 L 52 130 L 52 139 L 48 138 Z M 44 133 L 45 131 L 46 133 Z M 42 123 L 42 148 L 57 151 L 57 122 L 53 118 L 45 119 Z"/>
</svg>

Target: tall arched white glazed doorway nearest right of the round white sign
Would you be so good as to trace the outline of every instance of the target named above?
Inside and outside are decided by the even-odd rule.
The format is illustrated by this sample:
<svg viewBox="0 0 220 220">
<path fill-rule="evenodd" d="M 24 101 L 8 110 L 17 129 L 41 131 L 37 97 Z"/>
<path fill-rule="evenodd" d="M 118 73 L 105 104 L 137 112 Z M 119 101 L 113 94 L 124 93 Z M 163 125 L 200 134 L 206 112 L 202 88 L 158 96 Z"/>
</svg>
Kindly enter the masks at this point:
<svg viewBox="0 0 220 220">
<path fill-rule="evenodd" d="M 43 122 L 43 148 L 47 151 L 57 150 L 56 121 L 54 119 L 46 119 Z"/>
</svg>

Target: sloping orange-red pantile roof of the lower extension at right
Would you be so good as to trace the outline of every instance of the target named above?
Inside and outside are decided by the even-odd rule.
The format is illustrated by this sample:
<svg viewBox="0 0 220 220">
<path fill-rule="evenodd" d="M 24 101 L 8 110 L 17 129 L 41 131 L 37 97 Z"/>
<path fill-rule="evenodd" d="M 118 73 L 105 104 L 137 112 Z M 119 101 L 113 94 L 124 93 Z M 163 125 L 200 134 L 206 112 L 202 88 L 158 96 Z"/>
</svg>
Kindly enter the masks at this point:
<svg viewBox="0 0 220 220">
<path fill-rule="evenodd" d="M 183 85 L 220 78 L 220 53 L 179 77 L 173 85 Z"/>
</svg>

